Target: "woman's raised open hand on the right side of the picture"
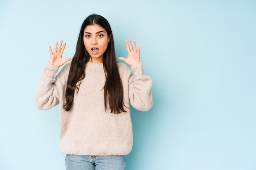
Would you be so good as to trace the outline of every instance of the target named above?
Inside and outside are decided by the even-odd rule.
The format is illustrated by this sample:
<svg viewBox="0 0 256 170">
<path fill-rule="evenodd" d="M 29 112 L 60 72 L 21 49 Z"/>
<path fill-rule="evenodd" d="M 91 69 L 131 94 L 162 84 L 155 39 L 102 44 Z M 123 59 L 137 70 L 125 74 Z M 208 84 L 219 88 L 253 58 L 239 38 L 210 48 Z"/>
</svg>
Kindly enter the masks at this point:
<svg viewBox="0 0 256 170">
<path fill-rule="evenodd" d="M 133 41 L 133 47 L 132 47 L 132 43 L 130 39 L 129 39 L 129 42 L 126 41 L 125 44 L 128 51 L 128 57 L 127 58 L 119 57 L 118 59 L 126 62 L 126 64 L 130 66 L 139 63 L 140 62 L 140 59 L 139 59 L 140 46 L 137 51 L 135 40 Z"/>
</svg>

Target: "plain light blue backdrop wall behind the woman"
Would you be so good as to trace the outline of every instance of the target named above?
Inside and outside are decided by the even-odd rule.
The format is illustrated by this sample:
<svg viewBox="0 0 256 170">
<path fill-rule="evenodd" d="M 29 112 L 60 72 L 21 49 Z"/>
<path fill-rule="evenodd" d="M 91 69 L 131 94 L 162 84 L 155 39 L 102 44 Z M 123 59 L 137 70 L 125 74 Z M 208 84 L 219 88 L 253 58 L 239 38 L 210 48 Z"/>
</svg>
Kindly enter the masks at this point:
<svg viewBox="0 0 256 170">
<path fill-rule="evenodd" d="M 153 108 L 131 110 L 127 170 L 256 169 L 255 0 L 1 0 L 0 170 L 65 169 L 58 106 L 39 111 L 34 91 L 48 44 L 72 57 L 91 13 L 118 57 L 136 39 L 153 79 Z"/>
</svg>

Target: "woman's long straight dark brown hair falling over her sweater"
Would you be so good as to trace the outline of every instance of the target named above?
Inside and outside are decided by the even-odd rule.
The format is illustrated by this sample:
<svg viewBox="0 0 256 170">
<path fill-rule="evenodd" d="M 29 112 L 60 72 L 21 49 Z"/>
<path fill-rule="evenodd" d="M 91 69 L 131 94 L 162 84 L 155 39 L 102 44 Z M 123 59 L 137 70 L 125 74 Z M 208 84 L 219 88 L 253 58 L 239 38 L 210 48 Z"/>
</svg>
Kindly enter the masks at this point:
<svg viewBox="0 0 256 170">
<path fill-rule="evenodd" d="M 75 91 L 78 93 L 81 80 L 85 78 L 85 65 L 89 61 L 90 55 L 83 44 L 83 32 L 86 26 L 94 24 L 103 27 L 107 31 L 108 37 L 111 36 L 108 47 L 103 54 L 103 68 L 106 76 L 104 85 L 105 111 L 109 106 L 111 113 L 126 112 L 124 109 L 124 89 L 117 67 L 112 30 L 108 21 L 97 14 L 88 16 L 81 26 L 76 44 L 76 52 L 72 59 L 70 72 L 68 74 L 65 94 L 66 103 L 63 105 L 63 109 L 66 111 L 70 110 L 74 99 L 74 93 Z M 78 85 L 76 85 L 77 83 Z"/>
</svg>

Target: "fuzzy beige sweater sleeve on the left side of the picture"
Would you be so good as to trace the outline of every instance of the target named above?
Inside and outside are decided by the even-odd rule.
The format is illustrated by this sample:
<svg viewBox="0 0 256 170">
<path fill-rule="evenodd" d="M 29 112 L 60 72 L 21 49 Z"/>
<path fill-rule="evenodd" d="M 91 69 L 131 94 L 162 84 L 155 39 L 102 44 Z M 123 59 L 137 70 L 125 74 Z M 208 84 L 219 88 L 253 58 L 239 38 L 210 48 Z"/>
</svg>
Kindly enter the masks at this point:
<svg viewBox="0 0 256 170">
<path fill-rule="evenodd" d="M 58 68 L 47 63 L 42 71 L 42 77 L 39 79 L 36 91 L 36 107 L 40 110 L 51 109 L 58 105 L 60 98 L 60 89 L 56 85 L 55 74 Z"/>
</svg>

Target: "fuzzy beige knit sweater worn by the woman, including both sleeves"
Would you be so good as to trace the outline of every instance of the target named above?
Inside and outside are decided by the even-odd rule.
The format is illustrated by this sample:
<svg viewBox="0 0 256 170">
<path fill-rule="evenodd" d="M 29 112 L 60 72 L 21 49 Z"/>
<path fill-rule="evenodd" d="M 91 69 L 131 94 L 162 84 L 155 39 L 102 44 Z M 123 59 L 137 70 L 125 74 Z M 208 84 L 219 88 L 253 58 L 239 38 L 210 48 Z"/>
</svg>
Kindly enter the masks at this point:
<svg viewBox="0 0 256 170">
<path fill-rule="evenodd" d="M 153 105 L 151 78 L 144 75 L 142 63 L 130 68 L 117 63 L 124 87 L 124 103 L 148 111 Z M 72 155 L 127 155 L 132 149 L 130 109 L 114 114 L 104 107 L 105 74 L 102 63 L 86 64 L 85 78 L 74 95 L 70 111 L 63 109 L 70 63 L 59 74 L 58 68 L 47 63 L 35 92 L 36 107 L 50 109 L 60 104 L 60 149 Z"/>
</svg>

